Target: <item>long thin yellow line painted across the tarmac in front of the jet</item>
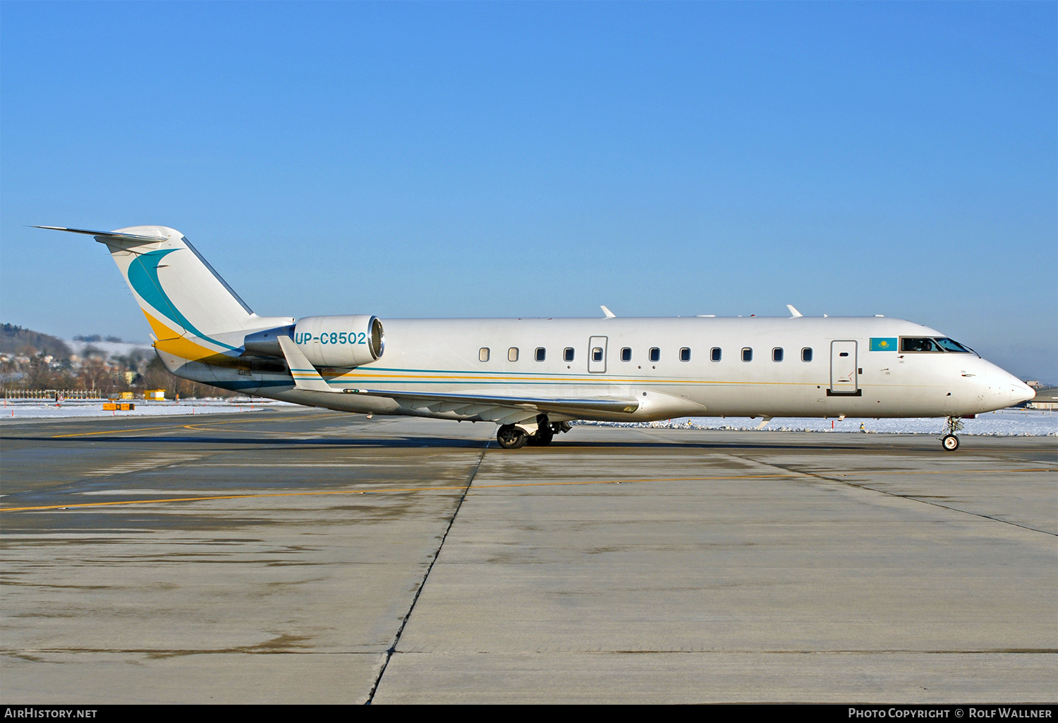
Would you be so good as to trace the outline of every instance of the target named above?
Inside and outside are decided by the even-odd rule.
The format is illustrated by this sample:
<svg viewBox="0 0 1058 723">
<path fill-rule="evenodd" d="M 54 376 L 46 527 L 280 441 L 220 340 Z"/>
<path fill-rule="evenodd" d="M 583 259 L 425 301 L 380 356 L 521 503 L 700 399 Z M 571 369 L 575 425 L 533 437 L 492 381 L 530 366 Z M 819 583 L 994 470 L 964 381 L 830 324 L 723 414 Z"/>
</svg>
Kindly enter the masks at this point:
<svg viewBox="0 0 1058 723">
<path fill-rule="evenodd" d="M 963 470 L 950 470 L 951 474 L 967 475 L 967 474 L 1009 474 L 1009 472 L 1039 472 L 1039 471 L 1055 471 L 1054 469 L 963 469 Z M 858 472 L 858 474 L 906 474 L 906 475 L 942 475 L 944 471 L 917 471 L 917 472 L 896 472 L 896 471 L 879 471 L 879 472 Z M 827 482 L 838 480 L 828 480 L 826 478 L 821 478 L 818 474 L 813 472 L 788 472 L 780 475 L 728 475 L 718 477 L 665 477 L 665 478 L 654 478 L 654 479 L 628 479 L 628 480 L 583 480 L 583 481 L 570 481 L 570 482 L 514 482 L 510 484 L 477 484 L 474 485 L 474 489 L 504 489 L 509 487 L 548 487 L 548 486 L 570 486 L 570 485 L 588 485 L 588 484 L 628 484 L 635 482 L 709 482 L 709 481 L 720 481 L 720 480 L 771 480 L 771 479 L 789 479 L 794 477 L 808 477 L 811 479 L 824 479 Z M 419 492 L 451 492 L 451 490 L 468 490 L 469 485 L 445 485 L 439 487 L 397 487 L 397 488 L 379 488 L 379 489 L 327 489 L 327 490 L 315 490 L 315 492 L 292 492 L 292 493 L 255 493 L 245 495 L 216 495 L 216 496 L 202 496 L 202 497 L 168 497 L 161 499 L 146 499 L 146 500 L 115 500 L 112 502 L 71 502 L 69 504 L 49 504 L 39 505 L 32 507 L 0 507 L 0 513 L 5 512 L 31 512 L 40 509 L 72 509 L 74 507 L 108 507 L 115 505 L 127 505 L 127 504 L 159 504 L 168 502 L 208 502 L 211 500 L 247 500 L 247 499 L 257 499 L 266 497 L 320 497 L 326 495 L 382 495 L 382 494 L 398 494 L 398 493 L 419 493 Z"/>
</svg>

